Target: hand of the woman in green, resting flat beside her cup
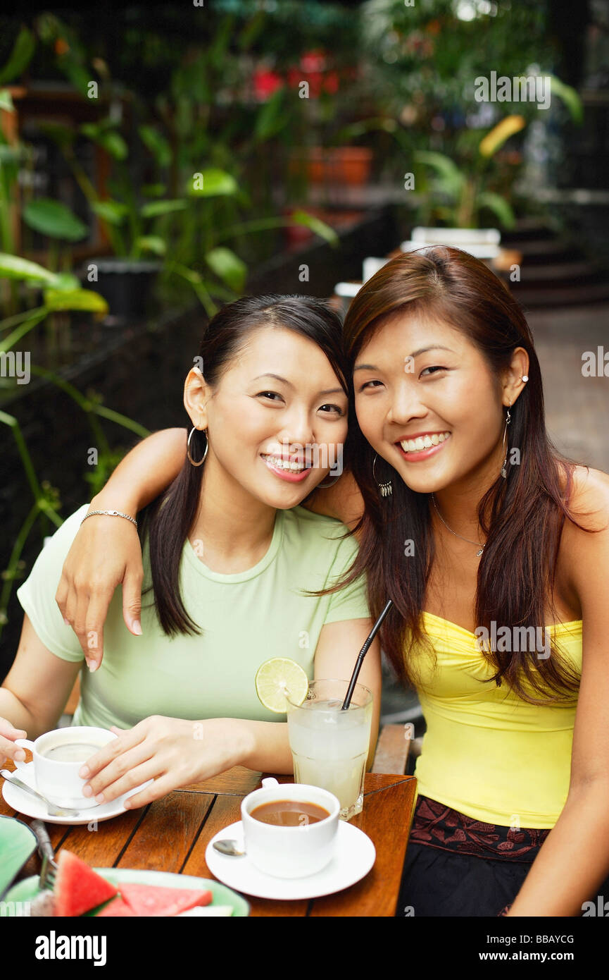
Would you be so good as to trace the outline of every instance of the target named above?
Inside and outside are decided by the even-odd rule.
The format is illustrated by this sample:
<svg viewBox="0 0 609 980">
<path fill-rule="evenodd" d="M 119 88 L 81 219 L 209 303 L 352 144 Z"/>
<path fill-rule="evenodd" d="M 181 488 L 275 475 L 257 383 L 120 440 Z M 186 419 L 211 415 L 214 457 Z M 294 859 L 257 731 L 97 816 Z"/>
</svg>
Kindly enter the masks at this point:
<svg viewBox="0 0 609 980">
<path fill-rule="evenodd" d="M 223 772 L 238 764 L 241 750 L 246 749 L 236 718 L 186 721 L 154 714 L 133 728 L 111 730 L 117 738 L 80 769 L 87 779 L 83 794 L 94 796 L 99 804 L 110 803 L 154 779 L 125 801 L 129 809 L 145 807 L 171 790 Z"/>
</svg>

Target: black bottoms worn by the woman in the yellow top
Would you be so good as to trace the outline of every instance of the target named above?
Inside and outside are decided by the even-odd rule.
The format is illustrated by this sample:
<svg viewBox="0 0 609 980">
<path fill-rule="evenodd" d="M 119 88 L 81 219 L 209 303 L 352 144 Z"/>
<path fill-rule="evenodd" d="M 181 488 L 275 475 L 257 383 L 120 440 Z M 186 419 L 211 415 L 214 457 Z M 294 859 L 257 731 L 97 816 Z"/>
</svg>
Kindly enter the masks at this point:
<svg viewBox="0 0 609 980">
<path fill-rule="evenodd" d="M 531 862 L 475 858 L 424 844 L 409 844 L 396 915 L 479 916 L 511 904 Z M 609 901 L 609 878 L 596 890 Z M 589 896 L 596 906 L 596 895 Z"/>
</svg>

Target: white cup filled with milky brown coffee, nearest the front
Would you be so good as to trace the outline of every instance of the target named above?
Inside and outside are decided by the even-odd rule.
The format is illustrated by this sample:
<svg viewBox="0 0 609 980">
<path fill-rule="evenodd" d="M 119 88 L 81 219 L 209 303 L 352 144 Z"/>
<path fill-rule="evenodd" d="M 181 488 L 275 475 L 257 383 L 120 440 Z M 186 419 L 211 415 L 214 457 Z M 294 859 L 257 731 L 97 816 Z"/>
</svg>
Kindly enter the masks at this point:
<svg viewBox="0 0 609 980">
<path fill-rule="evenodd" d="M 281 827 L 262 823 L 252 810 L 277 800 L 298 800 L 328 810 L 329 816 L 304 826 Z M 241 804 L 243 836 L 248 858 L 265 874 L 276 878 L 304 878 L 316 874 L 334 857 L 341 805 L 318 786 L 262 780 L 262 789 L 250 793 Z"/>
</svg>

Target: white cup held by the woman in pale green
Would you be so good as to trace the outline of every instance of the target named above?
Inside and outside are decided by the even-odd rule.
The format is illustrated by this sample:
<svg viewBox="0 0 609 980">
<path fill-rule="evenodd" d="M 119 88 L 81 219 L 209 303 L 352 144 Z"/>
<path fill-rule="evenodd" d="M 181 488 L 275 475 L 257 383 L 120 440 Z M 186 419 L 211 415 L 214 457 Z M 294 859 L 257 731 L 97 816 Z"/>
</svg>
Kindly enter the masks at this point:
<svg viewBox="0 0 609 980">
<path fill-rule="evenodd" d="M 53 731 L 39 735 L 34 742 L 26 738 L 15 739 L 15 745 L 29 749 L 33 757 L 36 789 L 51 803 L 60 807 L 88 809 L 99 806 L 95 797 L 82 795 L 82 787 L 86 779 L 78 775 L 86 759 L 103 749 L 108 742 L 117 738 L 114 732 L 107 728 L 93 728 L 88 725 L 74 725 L 68 728 L 55 728 Z M 69 746 L 82 746 L 82 752 L 77 753 Z M 63 752 L 62 752 L 63 750 Z M 89 751 L 90 750 L 90 751 Z M 51 757 L 46 753 L 51 753 Z M 53 758 L 80 756 L 82 758 Z M 24 769 L 26 762 L 15 760 L 19 769 Z"/>
</svg>

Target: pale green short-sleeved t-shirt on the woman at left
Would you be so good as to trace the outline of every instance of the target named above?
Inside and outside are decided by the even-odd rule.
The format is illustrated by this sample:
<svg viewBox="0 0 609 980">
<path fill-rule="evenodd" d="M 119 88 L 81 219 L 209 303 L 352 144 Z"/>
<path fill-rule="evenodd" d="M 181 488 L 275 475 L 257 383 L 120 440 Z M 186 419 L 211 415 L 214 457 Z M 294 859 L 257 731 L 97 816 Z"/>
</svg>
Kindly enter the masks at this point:
<svg viewBox="0 0 609 980">
<path fill-rule="evenodd" d="M 55 602 L 62 566 L 88 509 L 83 505 L 47 540 L 17 590 L 45 647 L 62 660 L 83 662 L 74 725 L 128 728 L 151 714 L 285 721 L 285 715 L 267 711 L 258 701 L 254 678 L 260 663 L 287 657 L 300 663 L 312 679 L 324 623 L 369 616 L 363 575 L 329 596 L 301 594 L 302 589 L 335 584 L 351 565 L 357 544 L 352 537 L 340 540 L 346 531 L 340 521 L 295 507 L 277 511 L 270 547 L 247 571 L 211 571 L 185 542 L 182 602 L 201 635 L 165 636 L 151 591 L 142 603 L 143 635 L 133 636 L 122 619 L 117 589 L 104 626 L 104 660 L 90 673 L 78 639 Z M 146 587 L 151 581 L 147 543 L 143 565 Z M 353 650 L 353 663 L 357 653 Z"/>
</svg>

